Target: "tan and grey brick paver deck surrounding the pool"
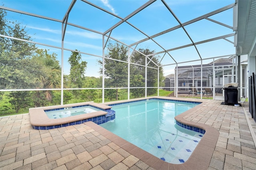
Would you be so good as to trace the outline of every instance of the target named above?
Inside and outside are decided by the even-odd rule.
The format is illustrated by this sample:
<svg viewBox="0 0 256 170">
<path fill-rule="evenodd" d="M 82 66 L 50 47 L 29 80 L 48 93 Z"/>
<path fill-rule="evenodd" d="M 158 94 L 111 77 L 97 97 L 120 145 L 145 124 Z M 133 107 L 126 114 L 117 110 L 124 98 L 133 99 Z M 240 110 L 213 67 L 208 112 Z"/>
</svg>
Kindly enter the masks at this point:
<svg viewBox="0 0 256 170">
<path fill-rule="evenodd" d="M 248 113 L 248 103 L 234 107 L 221 105 L 222 101 L 202 101 L 207 104 L 183 119 L 213 127 L 219 135 L 213 152 L 207 150 L 207 144 L 212 144 L 210 139 L 202 138 L 190 159 L 194 163 L 164 162 L 92 122 L 35 130 L 29 115 L 23 114 L 0 117 L 0 170 L 256 170 L 256 123 Z"/>
</svg>

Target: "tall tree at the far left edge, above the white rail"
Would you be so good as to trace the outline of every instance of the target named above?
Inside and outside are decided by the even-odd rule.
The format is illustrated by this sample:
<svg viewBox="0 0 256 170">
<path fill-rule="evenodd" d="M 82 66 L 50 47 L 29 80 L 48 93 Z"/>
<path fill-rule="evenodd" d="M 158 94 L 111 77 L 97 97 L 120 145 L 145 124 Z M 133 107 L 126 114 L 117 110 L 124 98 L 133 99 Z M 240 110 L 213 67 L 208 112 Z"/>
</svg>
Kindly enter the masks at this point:
<svg viewBox="0 0 256 170">
<path fill-rule="evenodd" d="M 19 22 L 8 22 L 6 12 L 0 10 L 0 33 L 23 40 L 31 40 Z M 38 86 L 38 77 L 34 71 L 36 63 L 30 62 L 36 51 L 35 44 L 22 42 L 10 38 L 0 38 L 0 88 L 1 89 L 29 89 Z"/>
</svg>

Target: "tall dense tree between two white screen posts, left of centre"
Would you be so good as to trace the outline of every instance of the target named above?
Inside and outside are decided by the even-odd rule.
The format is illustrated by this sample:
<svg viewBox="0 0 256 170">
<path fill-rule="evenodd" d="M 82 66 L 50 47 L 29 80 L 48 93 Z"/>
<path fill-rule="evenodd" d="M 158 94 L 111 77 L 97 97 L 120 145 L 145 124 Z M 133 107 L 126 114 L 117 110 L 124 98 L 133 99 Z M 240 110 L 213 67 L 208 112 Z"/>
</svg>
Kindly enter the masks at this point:
<svg viewBox="0 0 256 170">
<path fill-rule="evenodd" d="M 118 87 L 127 87 L 128 84 L 128 64 L 122 62 L 128 60 L 128 49 L 124 45 L 120 45 L 117 42 L 115 44 L 109 43 L 107 45 L 107 49 L 108 53 L 105 55 L 104 65 L 104 73 L 106 77 L 105 84 L 108 87 L 116 88 L 116 100 L 118 100 Z M 101 60 L 98 60 L 98 63 L 101 66 L 103 64 Z M 102 74 L 102 69 L 100 70 L 100 73 Z"/>
</svg>

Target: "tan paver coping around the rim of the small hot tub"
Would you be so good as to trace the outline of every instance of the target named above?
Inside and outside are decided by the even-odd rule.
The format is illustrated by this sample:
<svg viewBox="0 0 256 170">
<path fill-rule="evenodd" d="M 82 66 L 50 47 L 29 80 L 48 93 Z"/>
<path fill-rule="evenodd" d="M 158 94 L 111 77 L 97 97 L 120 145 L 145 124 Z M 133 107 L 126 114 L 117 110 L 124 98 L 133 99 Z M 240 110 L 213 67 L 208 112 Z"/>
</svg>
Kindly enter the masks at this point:
<svg viewBox="0 0 256 170">
<path fill-rule="evenodd" d="M 74 104 L 68 104 L 68 105 L 30 108 L 29 109 L 30 124 L 34 127 L 50 127 L 50 126 L 54 126 L 54 125 L 63 125 L 63 124 L 70 123 L 70 122 L 81 121 L 81 120 L 85 120 L 85 119 L 90 119 L 92 117 L 98 117 L 98 116 L 108 114 L 108 112 L 102 110 L 102 111 L 97 111 L 97 112 L 93 112 L 93 113 L 75 115 L 72 117 L 50 119 L 47 117 L 46 113 L 44 112 L 44 110 L 58 109 L 58 108 L 65 108 L 65 107 L 76 107 L 76 106 L 80 106 L 80 105 L 89 105 L 89 106 L 100 108 L 103 110 L 112 108 L 111 106 L 107 106 L 107 105 L 100 104 L 100 103 L 94 103 L 94 102 L 83 102 L 83 103 L 74 103 Z"/>
</svg>

